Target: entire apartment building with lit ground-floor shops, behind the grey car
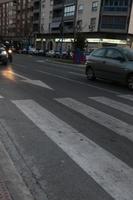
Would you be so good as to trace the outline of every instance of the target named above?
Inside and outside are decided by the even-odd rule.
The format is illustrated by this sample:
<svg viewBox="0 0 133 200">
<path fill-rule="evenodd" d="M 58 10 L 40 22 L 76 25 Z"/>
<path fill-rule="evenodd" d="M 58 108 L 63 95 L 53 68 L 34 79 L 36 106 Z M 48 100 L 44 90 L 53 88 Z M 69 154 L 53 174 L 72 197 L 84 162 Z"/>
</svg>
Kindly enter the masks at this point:
<svg viewBox="0 0 133 200">
<path fill-rule="evenodd" d="M 45 9 L 41 12 L 41 34 L 37 38 L 52 43 L 46 42 L 48 48 L 57 48 L 62 37 L 65 45 L 70 45 L 75 32 L 85 35 L 90 48 L 109 44 L 131 46 L 133 0 L 53 0 L 52 6 L 50 2 L 42 0 L 41 8 Z"/>
</svg>

